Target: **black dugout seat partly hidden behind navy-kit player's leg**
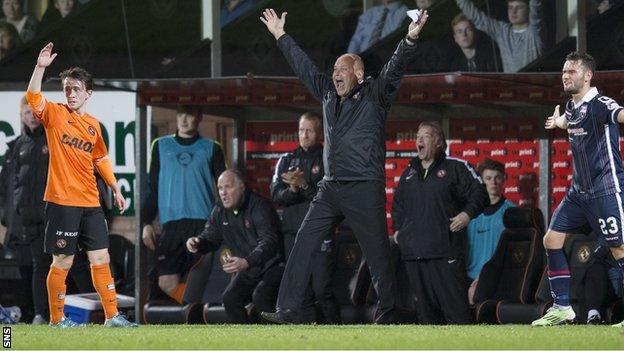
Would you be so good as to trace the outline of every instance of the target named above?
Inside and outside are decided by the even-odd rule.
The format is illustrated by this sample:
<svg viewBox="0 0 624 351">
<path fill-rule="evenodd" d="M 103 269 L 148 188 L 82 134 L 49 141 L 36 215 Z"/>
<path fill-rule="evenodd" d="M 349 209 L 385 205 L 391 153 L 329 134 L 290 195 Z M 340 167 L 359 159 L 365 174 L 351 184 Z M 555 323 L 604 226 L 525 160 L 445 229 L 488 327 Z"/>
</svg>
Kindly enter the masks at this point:
<svg viewBox="0 0 624 351">
<path fill-rule="evenodd" d="M 591 264 L 596 245 L 596 236 L 592 232 L 589 234 L 570 234 L 563 247 L 570 266 L 570 302 L 577 318 L 582 315 L 583 277 Z M 540 248 L 542 251 L 544 250 L 543 245 L 540 245 Z M 546 313 L 546 310 L 552 306 L 553 299 L 550 294 L 547 271 L 543 269 L 542 272 L 534 302 L 499 302 L 496 306 L 496 321 L 498 323 L 531 323 Z"/>
</svg>

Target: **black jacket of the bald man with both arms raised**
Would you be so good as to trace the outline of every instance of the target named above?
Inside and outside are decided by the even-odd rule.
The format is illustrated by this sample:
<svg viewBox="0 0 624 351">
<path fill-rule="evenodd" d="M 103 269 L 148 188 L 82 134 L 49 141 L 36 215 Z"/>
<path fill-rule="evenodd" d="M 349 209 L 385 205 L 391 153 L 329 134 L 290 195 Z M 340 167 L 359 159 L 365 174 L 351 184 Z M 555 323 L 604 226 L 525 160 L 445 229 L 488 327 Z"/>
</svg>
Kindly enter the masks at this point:
<svg viewBox="0 0 624 351">
<path fill-rule="evenodd" d="M 325 180 L 385 182 L 385 122 L 416 45 L 401 40 L 377 78 L 355 86 L 341 102 L 332 77 L 319 72 L 288 35 L 277 45 L 310 93 L 323 104 Z"/>
</svg>

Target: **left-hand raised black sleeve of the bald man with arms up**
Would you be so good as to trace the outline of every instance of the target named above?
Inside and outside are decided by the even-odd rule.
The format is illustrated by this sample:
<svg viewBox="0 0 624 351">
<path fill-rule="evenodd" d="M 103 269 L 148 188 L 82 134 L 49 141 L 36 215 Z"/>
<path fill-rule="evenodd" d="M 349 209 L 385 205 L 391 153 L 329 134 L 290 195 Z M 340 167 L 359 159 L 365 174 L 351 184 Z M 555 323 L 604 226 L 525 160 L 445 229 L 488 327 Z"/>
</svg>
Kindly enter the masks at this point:
<svg viewBox="0 0 624 351">
<path fill-rule="evenodd" d="M 318 101 L 323 101 L 325 93 L 332 89 L 331 79 L 326 74 L 319 72 L 308 55 L 301 50 L 290 35 L 282 35 L 277 40 L 277 46 L 284 54 L 290 67 L 295 71 L 297 77 L 308 88 L 314 98 Z"/>
</svg>

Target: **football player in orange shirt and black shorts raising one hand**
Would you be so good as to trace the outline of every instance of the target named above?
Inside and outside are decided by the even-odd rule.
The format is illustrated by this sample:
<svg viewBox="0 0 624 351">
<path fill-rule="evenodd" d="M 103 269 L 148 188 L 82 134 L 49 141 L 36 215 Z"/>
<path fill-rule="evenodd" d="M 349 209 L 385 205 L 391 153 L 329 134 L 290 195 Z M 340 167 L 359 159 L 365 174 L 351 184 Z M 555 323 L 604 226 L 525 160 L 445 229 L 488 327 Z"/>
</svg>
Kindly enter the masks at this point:
<svg viewBox="0 0 624 351">
<path fill-rule="evenodd" d="M 104 326 L 136 327 L 136 323 L 117 311 L 115 282 L 109 266 L 108 229 L 98 199 L 94 167 L 113 189 L 115 205 L 123 212 L 126 204 L 113 174 L 100 124 L 85 111 L 93 92 L 93 79 L 82 68 L 65 70 L 60 77 L 67 103 L 46 100 L 41 94 L 41 81 L 46 67 L 57 56 L 52 48 L 49 43 L 39 53 L 26 93 L 28 104 L 45 128 L 50 151 L 44 195 L 45 250 L 53 255 L 47 278 L 50 325 L 82 326 L 63 313 L 65 280 L 80 244 L 91 262 L 93 285 L 106 315 Z"/>
</svg>

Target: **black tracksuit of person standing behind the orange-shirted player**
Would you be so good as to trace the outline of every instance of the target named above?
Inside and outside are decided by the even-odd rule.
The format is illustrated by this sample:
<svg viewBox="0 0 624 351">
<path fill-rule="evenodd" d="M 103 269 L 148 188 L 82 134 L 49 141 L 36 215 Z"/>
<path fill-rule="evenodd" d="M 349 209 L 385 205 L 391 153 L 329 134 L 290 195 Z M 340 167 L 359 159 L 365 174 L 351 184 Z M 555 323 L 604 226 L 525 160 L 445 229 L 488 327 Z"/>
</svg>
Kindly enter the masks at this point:
<svg viewBox="0 0 624 351">
<path fill-rule="evenodd" d="M 16 212 L 24 228 L 23 240 L 30 246 L 32 255 L 32 290 L 35 314 L 47 317 L 48 298 L 46 277 L 52 255 L 44 252 L 45 192 L 48 178 L 49 153 L 42 126 L 25 132 L 15 140 L 13 163 L 15 167 L 14 201 Z M 79 252 L 70 270 L 81 292 L 94 291 L 86 254 Z"/>
</svg>

